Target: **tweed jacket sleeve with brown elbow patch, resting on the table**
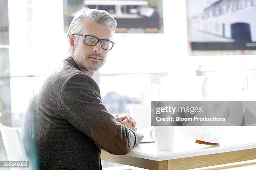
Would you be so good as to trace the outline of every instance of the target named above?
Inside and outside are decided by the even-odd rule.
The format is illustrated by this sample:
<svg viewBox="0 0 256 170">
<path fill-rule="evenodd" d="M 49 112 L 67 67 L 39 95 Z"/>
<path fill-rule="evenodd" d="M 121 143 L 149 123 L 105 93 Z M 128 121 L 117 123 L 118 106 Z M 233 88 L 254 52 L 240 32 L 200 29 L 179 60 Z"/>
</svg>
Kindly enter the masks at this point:
<svg viewBox="0 0 256 170">
<path fill-rule="evenodd" d="M 88 75 L 76 73 L 61 88 L 64 116 L 77 130 L 111 154 L 125 155 L 138 145 L 143 135 L 115 120 L 100 98 L 97 83 Z"/>
</svg>

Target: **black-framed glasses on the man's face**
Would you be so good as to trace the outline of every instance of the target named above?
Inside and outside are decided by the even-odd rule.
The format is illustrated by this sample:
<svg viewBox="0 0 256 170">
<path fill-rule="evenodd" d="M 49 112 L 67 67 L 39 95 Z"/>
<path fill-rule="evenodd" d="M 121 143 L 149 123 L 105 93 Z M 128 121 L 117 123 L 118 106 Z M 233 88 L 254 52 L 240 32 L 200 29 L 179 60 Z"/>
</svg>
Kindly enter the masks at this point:
<svg viewBox="0 0 256 170">
<path fill-rule="evenodd" d="M 73 35 L 78 35 L 81 37 L 84 37 L 84 44 L 89 46 L 95 46 L 98 42 L 100 42 L 100 46 L 104 50 L 111 50 L 115 44 L 115 42 L 106 40 L 106 39 L 100 39 L 98 37 L 95 37 L 93 35 L 84 35 L 79 33 L 74 33 Z"/>
</svg>

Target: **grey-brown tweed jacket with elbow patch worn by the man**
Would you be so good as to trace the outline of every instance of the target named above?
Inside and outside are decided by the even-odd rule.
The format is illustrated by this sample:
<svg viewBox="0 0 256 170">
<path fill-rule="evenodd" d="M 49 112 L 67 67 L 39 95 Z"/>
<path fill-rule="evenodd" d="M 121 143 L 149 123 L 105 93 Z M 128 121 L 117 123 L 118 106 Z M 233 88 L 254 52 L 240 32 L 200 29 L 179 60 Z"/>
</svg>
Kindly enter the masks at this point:
<svg viewBox="0 0 256 170">
<path fill-rule="evenodd" d="M 101 170 L 100 149 L 125 155 L 143 138 L 115 120 L 97 83 L 71 56 L 46 77 L 23 115 L 21 138 L 28 155 L 31 135 L 40 170 Z"/>
</svg>

